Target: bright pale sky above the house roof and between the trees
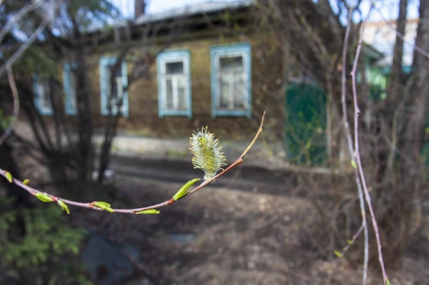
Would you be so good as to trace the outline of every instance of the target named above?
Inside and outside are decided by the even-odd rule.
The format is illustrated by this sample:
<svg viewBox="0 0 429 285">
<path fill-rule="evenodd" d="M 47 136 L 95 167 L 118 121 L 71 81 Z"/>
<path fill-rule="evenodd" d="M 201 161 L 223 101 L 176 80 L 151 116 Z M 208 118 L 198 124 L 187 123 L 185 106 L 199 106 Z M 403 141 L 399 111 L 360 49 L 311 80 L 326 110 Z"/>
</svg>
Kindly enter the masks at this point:
<svg viewBox="0 0 429 285">
<path fill-rule="evenodd" d="M 134 1 L 133 0 L 111 0 L 115 5 L 123 12 L 126 18 L 132 18 L 134 15 Z M 196 3 L 203 3 L 209 0 L 148 0 L 148 6 L 146 12 L 148 14 L 155 14 L 158 12 L 164 12 L 166 10 L 188 6 Z M 211 0 L 211 1 L 237 1 L 237 0 Z M 239 0 L 238 0 L 239 1 Z M 354 0 L 351 0 L 354 1 Z M 378 0 L 376 7 L 378 10 L 371 12 L 371 21 L 381 21 L 383 19 L 396 19 L 398 17 L 398 1 L 399 0 Z M 332 0 L 335 3 L 335 0 Z M 418 2 L 419 0 L 409 0 L 407 17 L 416 18 L 419 16 Z M 381 4 L 382 3 L 382 4 Z M 369 7 L 371 6 L 371 0 L 362 1 L 362 12 L 367 15 Z"/>
</svg>

